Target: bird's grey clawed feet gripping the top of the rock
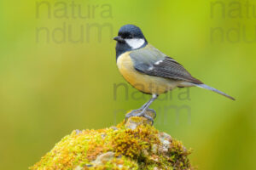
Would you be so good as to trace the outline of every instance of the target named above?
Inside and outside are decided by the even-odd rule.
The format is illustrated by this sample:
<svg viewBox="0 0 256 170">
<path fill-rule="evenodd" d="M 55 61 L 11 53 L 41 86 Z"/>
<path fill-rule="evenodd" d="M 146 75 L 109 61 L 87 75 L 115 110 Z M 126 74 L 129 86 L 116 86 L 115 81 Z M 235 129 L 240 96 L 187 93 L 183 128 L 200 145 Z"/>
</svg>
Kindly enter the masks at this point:
<svg viewBox="0 0 256 170">
<path fill-rule="evenodd" d="M 148 113 L 149 114 L 153 113 L 153 116 L 149 116 Z M 154 124 L 154 118 L 156 117 L 156 112 L 153 109 L 147 109 L 147 110 L 143 111 L 142 108 L 137 109 L 137 110 L 133 110 L 125 116 L 125 122 L 128 120 L 128 118 L 130 118 L 132 116 L 143 116 L 143 117 L 147 118 L 150 122 L 152 122 L 151 124 L 153 125 Z"/>
</svg>

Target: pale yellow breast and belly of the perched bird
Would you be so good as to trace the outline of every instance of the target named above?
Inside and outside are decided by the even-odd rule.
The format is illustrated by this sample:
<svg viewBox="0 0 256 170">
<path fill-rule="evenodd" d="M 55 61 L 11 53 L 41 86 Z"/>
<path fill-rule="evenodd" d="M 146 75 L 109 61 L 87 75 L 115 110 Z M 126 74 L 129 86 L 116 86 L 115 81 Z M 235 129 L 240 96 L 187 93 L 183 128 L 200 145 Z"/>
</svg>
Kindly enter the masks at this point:
<svg viewBox="0 0 256 170">
<path fill-rule="evenodd" d="M 178 82 L 163 77 L 154 77 L 143 74 L 134 69 L 131 52 L 121 54 L 117 59 L 117 65 L 120 73 L 125 80 L 134 88 L 146 94 L 163 94 L 172 88 L 176 88 Z"/>
</svg>

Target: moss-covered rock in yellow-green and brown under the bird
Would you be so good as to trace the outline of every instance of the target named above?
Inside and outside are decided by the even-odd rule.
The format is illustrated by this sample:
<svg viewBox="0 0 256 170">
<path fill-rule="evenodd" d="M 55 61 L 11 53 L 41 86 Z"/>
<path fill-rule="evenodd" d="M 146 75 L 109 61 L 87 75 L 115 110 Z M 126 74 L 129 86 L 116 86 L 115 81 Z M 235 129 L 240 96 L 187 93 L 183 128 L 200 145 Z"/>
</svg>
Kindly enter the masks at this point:
<svg viewBox="0 0 256 170">
<path fill-rule="evenodd" d="M 75 130 L 30 169 L 193 169 L 191 150 L 150 124 L 143 117 L 131 117 L 116 127 Z"/>
</svg>

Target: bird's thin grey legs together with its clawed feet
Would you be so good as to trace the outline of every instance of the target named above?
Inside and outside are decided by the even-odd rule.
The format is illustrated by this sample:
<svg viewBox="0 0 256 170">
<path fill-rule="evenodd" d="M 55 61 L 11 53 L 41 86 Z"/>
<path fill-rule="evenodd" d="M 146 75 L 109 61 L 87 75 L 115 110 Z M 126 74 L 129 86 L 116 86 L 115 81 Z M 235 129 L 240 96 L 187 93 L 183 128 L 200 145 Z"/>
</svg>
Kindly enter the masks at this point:
<svg viewBox="0 0 256 170">
<path fill-rule="evenodd" d="M 144 116 L 146 118 L 148 118 L 151 122 L 154 122 L 154 120 L 152 119 L 152 117 L 148 116 L 146 114 L 146 111 L 153 111 L 154 112 L 154 117 L 156 116 L 156 113 L 154 110 L 151 110 L 151 109 L 148 109 L 149 105 L 151 105 L 155 99 L 158 98 L 158 94 L 153 94 L 152 95 L 152 98 L 148 100 L 148 102 L 146 104 L 144 104 L 140 109 L 137 109 L 137 110 L 134 110 L 134 111 L 131 111 L 130 113 L 128 113 L 126 116 L 125 116 L 125 122 L 126 120 L 131 117 L 131 116 Z M 137 111 L 140 111 L 140 112 L 137 112 Z"/>
</svg>

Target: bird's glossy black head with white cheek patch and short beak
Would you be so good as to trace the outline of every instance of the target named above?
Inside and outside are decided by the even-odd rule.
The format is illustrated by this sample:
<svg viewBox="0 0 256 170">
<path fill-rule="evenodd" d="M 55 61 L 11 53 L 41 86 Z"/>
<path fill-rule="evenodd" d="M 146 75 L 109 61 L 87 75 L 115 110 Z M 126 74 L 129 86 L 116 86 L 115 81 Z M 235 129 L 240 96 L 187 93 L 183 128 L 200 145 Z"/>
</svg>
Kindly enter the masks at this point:
<svg viewBox="0 0 256 170">
<path fill-rule="evenodd" d="M 118 51 L 130 51 L 132 49 L 143 48 L 148 44 L 143 35 L 143 31 L 134 25 L 122 26 L 119 29 L 118 36 L 113 39 L 117 41 L 117 53 Z"/>
</svg>

